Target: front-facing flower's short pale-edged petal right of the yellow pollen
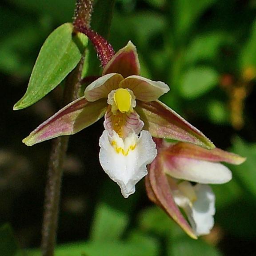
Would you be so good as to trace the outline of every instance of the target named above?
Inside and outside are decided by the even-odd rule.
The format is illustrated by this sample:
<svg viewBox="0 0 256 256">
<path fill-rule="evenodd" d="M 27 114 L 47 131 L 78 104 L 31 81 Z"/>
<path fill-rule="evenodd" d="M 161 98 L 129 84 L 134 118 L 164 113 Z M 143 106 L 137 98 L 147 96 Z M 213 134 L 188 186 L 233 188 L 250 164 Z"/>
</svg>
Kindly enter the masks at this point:
<svg viewBox="0 0 256 256">
<path fill-rule="evenodd" d="M 137 100 L 145 102 L 157 100 L 170 88 L 163 82 L 156 82 L 142 76 L 128 76 L 121 81 L 119 87 L 132 90 Z"/>
</svg>

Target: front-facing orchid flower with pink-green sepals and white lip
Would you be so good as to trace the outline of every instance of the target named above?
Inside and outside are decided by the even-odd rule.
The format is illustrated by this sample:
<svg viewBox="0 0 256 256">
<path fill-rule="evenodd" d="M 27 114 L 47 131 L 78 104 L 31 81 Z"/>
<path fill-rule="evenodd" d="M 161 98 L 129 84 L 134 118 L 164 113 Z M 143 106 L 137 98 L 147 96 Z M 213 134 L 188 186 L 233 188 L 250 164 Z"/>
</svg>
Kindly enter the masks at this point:
<svg viewBox="0 0 256 256">
<path fill-rule="evenodd" d="M 32 146 L 75 134 L 104 116 L 100 164 L 125 198 L 135 192 L 135 184 L 148 173 L 146 165 L 156 157 L 152 136 L 214 148 L 200 131 L 157 100 L 169 91 L 168 85 L 139 74 L 136 47 L 128 42 L 108 61 L 102 76 L 88 85 L 84 96 L 42 123 L 23 142 Z"/>
</svg>

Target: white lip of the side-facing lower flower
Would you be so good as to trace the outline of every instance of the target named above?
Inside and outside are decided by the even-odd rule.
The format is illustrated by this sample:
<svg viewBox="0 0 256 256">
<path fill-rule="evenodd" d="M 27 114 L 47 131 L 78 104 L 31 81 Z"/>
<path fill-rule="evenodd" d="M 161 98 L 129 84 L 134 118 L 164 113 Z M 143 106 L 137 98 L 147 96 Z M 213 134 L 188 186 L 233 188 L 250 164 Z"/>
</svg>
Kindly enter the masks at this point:
<svg viewBox="0 0 256 256">
<path fill-rule="evenodd" d="M 184 209 L 197 236 L 207 235 L 214 225 L 215 195 L 210 186 L 188 181 L 178 185 L 173 191 L 176 204 Z"/>
</svg>

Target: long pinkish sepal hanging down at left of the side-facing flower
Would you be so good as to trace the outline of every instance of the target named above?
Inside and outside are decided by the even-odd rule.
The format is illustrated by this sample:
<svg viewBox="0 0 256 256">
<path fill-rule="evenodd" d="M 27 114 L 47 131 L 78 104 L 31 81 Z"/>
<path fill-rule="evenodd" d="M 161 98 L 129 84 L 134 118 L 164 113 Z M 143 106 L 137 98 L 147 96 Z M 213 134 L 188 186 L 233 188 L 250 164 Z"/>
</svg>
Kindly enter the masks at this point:
<svg viewBox="0 0 256 256">
<path fill-rule="evenodd" d="M 188 236 L 196 239 L 196 234 L 173 199 L 172 188 L 169 185 L 168 177 L 162 171 L 160 161 L 160 157 L 157 156 L 152 164 L 149 165 L 148 175 L 146 176 L 148 196 L 153 202 L 160 205 L 160 207 L 180 225 Z"/>
</svg>

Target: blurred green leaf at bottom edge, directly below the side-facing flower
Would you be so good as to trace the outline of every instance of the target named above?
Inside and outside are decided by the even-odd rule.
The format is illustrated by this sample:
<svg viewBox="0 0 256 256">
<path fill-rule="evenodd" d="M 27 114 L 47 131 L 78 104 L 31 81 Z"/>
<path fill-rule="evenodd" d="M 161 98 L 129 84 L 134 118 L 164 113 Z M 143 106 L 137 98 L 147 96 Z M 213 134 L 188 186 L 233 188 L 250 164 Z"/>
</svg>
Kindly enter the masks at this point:
<svg viewBox="0 0 256 256">
<path fill-rule="evenodd" d="M 203 240 L 192 240 L 187 237 L 170 239 L 168 244 L 168 256 L 222 256 L 222 254 Z"/>
</svg>

